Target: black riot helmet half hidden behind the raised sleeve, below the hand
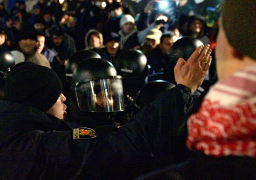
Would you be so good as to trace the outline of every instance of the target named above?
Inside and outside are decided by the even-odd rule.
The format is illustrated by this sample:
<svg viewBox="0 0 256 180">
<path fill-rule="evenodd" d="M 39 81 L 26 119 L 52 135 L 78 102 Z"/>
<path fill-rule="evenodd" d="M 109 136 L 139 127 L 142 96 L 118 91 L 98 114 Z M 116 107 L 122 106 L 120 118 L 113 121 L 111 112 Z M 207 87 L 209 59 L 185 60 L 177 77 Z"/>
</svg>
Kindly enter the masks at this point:
<svg viewBox="0 0 256 180">
<path fill-rule="evenodd" d="M 175 87 L 174 84 L 165 80 L 155 80 L 145 84 L 136 95 L 133 115 L 135 115 L 142 107 L 148 105 L 150 102 L 153 102 L 162 93 L 173 87 Z"/>
</svg>

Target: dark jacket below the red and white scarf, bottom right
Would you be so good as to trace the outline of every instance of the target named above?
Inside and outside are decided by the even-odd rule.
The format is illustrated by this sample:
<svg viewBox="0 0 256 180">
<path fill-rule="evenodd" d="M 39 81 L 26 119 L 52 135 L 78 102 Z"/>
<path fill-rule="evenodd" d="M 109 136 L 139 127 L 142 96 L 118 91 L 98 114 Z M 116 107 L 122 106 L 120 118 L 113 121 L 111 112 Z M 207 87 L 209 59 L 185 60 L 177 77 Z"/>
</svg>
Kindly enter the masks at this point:
<svg viewBox="0 0 256 180">
<path fill-rule="evenodd" d="M 252 157 L 211 157 L 196 154 L 194 158 L 155 170 L 138 180 L 255 180 L 256 159 Z"/>
</svg>

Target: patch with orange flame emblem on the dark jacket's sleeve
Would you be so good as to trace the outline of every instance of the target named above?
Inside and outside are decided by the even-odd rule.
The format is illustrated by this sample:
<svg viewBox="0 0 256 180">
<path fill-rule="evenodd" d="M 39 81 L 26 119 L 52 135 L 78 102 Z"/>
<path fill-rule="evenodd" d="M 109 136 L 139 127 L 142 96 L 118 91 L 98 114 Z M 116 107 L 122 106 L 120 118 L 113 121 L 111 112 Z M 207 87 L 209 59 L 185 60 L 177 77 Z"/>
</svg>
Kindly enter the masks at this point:
<svg viewBox="0 0 256 180">
<path fill-rule="evenodd" d="M 74 140 L 84 140 L 96 138 L 96 131 L 88 127 L 79 127 L 73 129 L 73 139 Z"/>
</svg>

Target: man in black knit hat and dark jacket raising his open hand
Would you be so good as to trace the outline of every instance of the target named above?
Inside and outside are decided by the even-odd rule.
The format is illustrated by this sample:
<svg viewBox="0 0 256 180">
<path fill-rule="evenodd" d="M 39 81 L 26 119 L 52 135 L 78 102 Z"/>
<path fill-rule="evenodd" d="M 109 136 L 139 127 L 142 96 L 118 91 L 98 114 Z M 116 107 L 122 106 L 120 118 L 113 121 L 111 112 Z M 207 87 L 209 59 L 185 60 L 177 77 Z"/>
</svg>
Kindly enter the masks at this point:
<svg viewBox="0 0 256 180">
<path fill-rule="evenodd" d="M 186 63 L 181 59 L 175 68 L 178 85 L 134 120 L 120 128 L 96 130 L 72 131 L 61 120 L 66 98 L 53 70 L 29 62 L 16 65 L 6 77 L 5 100 L 0 100 L 1 179 L 135 176 L 136 171 L 128 172 L 127 165 L 151 160 L 184 124 L 192 93 L 210 66 L 209 53 L 209 46 L 199 47 Z M 178 104 L 172 107 L 173 102 Z"/>
</svg>

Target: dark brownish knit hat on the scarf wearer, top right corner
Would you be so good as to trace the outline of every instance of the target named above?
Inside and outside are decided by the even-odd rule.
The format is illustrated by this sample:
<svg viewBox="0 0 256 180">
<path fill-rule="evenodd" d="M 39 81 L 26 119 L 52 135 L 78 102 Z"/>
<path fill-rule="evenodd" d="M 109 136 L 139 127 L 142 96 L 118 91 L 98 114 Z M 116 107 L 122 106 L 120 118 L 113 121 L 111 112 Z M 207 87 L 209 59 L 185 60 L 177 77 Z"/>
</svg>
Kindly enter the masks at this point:
<svg viewBox="0 0 256 180">
<path fill-rule="evenodd" d="M 222 26 L 229 44 L 256 60 L 256 1 L 224 0 Z"/>
</svg>

